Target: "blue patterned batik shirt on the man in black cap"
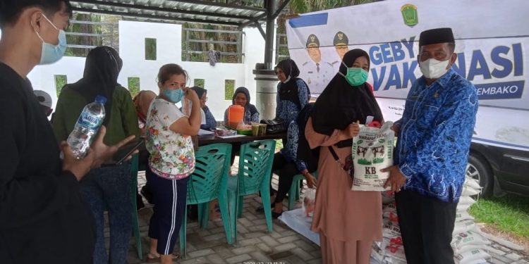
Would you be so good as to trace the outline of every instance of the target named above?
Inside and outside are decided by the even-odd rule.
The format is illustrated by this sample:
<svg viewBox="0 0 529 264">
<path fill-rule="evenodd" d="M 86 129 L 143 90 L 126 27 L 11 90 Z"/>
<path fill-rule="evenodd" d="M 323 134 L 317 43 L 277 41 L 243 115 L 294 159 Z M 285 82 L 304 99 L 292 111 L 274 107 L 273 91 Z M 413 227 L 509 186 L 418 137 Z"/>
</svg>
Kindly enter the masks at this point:
<svg viewBox="0 0 529 264">
<path fill-rule="evenodd" d="M 477 111 L 474 85 L 452 68 L 430 86 L 425 77 L 413 83 L 395 122 L 395 164 L 408 178 L 403 189 L 458 202 Z"/>
</svg>

